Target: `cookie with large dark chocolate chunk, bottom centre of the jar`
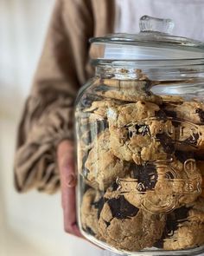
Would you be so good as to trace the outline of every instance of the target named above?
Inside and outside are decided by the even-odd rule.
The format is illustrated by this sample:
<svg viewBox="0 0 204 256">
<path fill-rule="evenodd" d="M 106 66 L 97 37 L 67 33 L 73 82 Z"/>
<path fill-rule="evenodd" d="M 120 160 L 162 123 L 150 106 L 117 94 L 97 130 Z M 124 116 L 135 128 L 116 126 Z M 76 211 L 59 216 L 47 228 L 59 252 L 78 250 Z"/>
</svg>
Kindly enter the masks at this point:
<svg viewBox="0 0 204 256">
<path fill-rule="evenodd" d="M 153 246 L 161 238 L 164 224 L 162 214 L 146 213 L 122 195 L 105 201 L 99 217 L 99 232 L 110 246 L 134 252 Z"/>
</svg>

